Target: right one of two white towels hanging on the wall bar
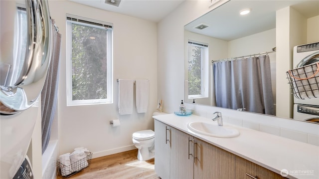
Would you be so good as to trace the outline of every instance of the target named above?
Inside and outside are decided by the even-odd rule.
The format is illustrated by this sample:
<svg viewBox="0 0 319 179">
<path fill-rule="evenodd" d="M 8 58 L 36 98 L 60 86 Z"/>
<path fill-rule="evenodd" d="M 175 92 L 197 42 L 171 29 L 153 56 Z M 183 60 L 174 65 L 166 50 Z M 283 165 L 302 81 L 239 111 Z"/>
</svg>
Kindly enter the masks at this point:
<svg viewBox="0 0 319 179">
<path fill-rule="evenodd" d="M 137 112 L 146 113 L 149 105 L 150 81 L 136 80 L 135 87 Z"/>
</svg>

